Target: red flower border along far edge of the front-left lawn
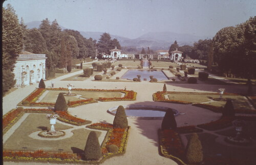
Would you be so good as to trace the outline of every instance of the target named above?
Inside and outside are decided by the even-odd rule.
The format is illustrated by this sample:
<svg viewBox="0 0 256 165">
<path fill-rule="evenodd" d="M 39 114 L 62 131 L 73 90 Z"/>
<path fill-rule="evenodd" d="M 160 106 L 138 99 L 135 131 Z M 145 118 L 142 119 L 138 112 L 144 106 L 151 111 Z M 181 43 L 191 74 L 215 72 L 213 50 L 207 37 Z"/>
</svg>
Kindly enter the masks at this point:
<svg viewBox="0 0 256 165">
<path fill-rule="evenodd" d="M 12 109 L 12 111 L 3 116 L 3 134 L 5 134 L 25 113 L 53 114 L 54 111 L 52 109 Z M 85 125 L 91 123 L 91 121 L 71 116 L 67 112 L 57 112 L 57 114 L 60 116 L 58 120 L 68 124 Z"/>
</svg>

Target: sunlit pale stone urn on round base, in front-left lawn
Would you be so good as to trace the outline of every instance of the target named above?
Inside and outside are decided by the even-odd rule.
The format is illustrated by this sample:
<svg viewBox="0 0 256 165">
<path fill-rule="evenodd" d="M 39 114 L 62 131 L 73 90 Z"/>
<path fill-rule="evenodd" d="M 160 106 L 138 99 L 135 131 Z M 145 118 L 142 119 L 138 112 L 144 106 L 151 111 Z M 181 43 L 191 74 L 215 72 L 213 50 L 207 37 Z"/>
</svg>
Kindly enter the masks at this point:
<svg viewBox="0 0 256 165">
<path fill-rule="evenodd" d="M 38 136 L 57 138 L 57 137 L 65 135 L 64 131 L 55 130 L 54 125 L 56 124 L 56 119 L 59 118 L 58 114 L 48 114 L 48 115 L 46 115 L 46 117 L 50 120 L 51 129 L 39 132 Z"/>
</svg>

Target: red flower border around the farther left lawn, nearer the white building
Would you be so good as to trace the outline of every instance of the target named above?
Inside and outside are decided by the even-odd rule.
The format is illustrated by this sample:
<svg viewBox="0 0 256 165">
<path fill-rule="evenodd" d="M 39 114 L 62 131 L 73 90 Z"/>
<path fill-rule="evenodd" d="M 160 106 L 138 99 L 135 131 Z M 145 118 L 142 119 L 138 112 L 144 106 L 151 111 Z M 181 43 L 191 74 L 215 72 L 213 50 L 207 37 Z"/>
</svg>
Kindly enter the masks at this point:
<svg viewBox="0 0 256 165">
<path fill-rule="evenodd" d="M 66 88 L 38 88 L 35 91 L 33 91 L 28 97 L 26 97 L 24 100 L 18 103 L 19 106 L 23 106 L 23 102 L 28 102 L 28 106 L 54 106 L 55 103 L 49 103 L 49 102 L 36 102 L 37 99 L 44 93 L 46 90 L 60 90 L 60 91 L 68 91 Z M 137 93 L 134 91 L 126 91 L 126 90 L 99 90 L 99 89 L 72 89 L 72 91 L 94 91 L 94 92 L 121 92 L 125 93 L 124 97 L 120 98 L 99 98 L 99 101 L 124 101 L 124 100 L 136 100 Z M 96 100 L 91 99 L 82 99 L 77 101 L 70 101 L 68 102 L 69 107 L 75 107 L 82 104 L 89 104 L 89 103 L 95 103 Z"/>
</svg>

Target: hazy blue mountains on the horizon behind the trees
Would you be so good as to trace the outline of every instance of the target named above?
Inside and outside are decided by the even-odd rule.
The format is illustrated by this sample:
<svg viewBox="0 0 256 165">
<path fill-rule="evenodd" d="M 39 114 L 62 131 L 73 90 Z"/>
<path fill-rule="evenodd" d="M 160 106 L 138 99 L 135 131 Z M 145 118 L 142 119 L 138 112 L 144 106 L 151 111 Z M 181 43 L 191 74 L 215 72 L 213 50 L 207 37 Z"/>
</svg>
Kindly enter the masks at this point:
<svg viewBox="0 0 256 165">
<path fill-rule="evenodd" d="M 39 28 L 39 24 L 41 21 L 32 21 L 29 23 L 26 23 L 28 29 L 32 28 Z M 59 25 L 62 30 L 65 30 L 67 28 Z M 83 32 L 78 31 L 80 34 L 85 38 L 92 38 L 94 40 L 99 40 L 100 35 L 103 34 L 103 32 Z M 112 35 L 110 34 L 111 38 L 116 38 L 121 46 L 127 46 L 127 47 L 150 47 L 152 50 L 158 50 L 158 49 L 169 49 L 170 45 L 174 43 L 176 40 L 180 46 L 182 45 L 193 45 L 194 42 L 197 42 L 198 40 L 202 39 L 210 39 L 212 36 L 195 36 L 190 34 L 178 34 L 178 33 L 172 33 L 172 32 L 149 32 L 146 33 L 136 39 L 130 39 L 122 36 Z"/>
</svg>

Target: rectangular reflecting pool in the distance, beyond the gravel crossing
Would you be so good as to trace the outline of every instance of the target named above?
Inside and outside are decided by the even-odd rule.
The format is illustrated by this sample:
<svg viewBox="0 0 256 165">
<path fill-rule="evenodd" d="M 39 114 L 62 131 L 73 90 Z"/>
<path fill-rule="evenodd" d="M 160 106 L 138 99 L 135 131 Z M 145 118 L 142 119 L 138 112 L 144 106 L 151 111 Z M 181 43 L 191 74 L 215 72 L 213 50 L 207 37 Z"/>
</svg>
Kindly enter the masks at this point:
<svg viewBox="0 0 256 165">
<path fill-rule="evenodd" d="M 140 79 L 150 80 L 150 76 L 157 78 L 158 80 L 167 80 L 168 78 L 162 71 L 157 70 L 128 70 L 121 78 L 123 79 L 133 79 L 137 78 L 137 75 L 141 75 Z"/>
</svg>

